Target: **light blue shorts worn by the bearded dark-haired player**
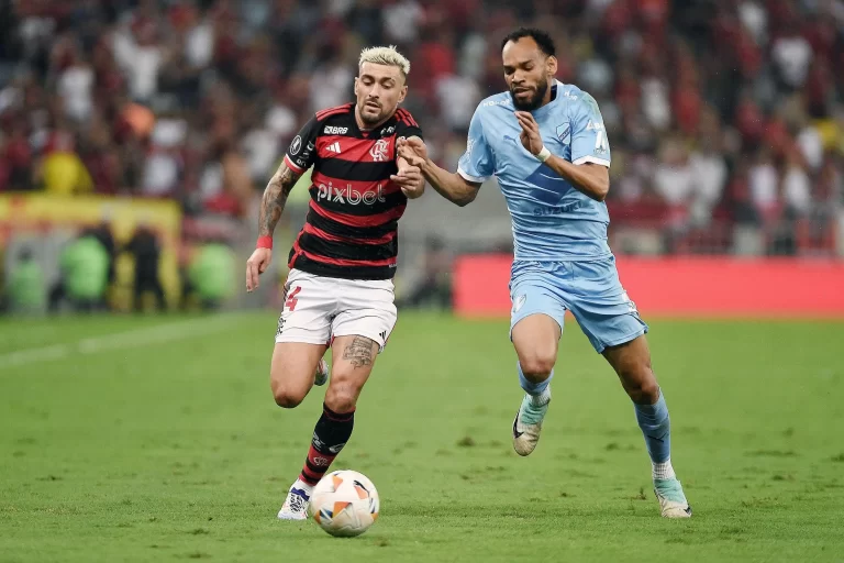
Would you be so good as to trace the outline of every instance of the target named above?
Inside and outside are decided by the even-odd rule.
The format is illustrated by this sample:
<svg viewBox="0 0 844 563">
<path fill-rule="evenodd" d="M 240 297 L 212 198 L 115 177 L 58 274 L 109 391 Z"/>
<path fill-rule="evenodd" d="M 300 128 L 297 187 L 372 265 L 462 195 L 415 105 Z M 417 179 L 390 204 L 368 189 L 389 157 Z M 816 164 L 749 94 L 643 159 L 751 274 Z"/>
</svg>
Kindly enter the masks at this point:
<svg viewBox="0 0 844 563">
<path fill-rule="evenodd" d="M 615 256 L 597 261 L 514 261 L 510 276 L 510 334 L 520 320 L 543 313 L 563 330 L 571 311 L 598 353 L 647 333 L 636 306 L 621 286 Z"/>
</svg>

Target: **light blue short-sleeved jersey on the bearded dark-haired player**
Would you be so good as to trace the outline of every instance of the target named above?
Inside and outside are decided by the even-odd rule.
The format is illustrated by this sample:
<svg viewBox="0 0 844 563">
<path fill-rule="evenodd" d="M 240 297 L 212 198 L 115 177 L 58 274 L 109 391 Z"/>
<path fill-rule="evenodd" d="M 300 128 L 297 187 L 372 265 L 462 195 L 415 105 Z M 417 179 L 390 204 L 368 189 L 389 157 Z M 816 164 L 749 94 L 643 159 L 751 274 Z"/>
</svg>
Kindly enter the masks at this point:
<svg viewBox="0 0 844 563">
<path fill-rule="evenodd" d="M 556 97 L 532 112 L 552 154 L 574 164 L 610 166 L 610 144 L 598 103 L 576 86 L 555 81 Z M 495 176 L 513 224 L 517 260 L 595 260 L 610 255 L 607 206 L 575 189 L 522 146 L 510 92 L 484 100 L 469 125 L 457 172 L 469 181 Z"/>
</svg>

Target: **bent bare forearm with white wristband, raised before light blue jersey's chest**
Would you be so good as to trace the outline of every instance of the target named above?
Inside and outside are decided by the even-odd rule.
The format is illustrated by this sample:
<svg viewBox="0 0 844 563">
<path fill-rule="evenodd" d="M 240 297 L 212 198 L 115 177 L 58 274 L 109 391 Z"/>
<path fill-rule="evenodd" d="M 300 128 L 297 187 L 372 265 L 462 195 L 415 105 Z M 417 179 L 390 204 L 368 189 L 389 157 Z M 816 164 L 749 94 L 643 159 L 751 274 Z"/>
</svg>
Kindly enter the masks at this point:
<svg viewBox="0 0 844 563">
<path fill-rule="evenodd" d="M 530 112 L 517 111 L 515 119 L 522 126 L 521 141 L 524 147 L 537 159 L 544 162 L 552 170 L 567 179 L 575 189 L 596 201 L 607 199 L 610 191 L 610 170 L 599 162 L 573 164 L 562 156 L 551 154 L 540 135 L 540 125 Z M 573 135 L 574 136 L 574 135 Z M 598 159 L 596 159 L 598 161 Z"/>
</svg>

